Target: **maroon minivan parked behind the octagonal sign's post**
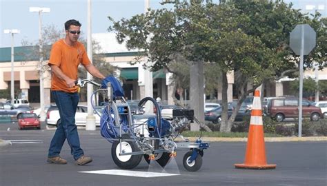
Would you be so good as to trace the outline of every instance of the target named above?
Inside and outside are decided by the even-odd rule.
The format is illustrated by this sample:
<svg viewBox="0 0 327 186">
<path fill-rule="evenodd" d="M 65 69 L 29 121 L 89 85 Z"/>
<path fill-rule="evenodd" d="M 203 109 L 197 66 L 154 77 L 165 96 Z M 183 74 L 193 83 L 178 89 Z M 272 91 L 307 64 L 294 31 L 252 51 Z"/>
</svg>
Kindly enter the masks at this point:
<svg viewBox="0 0 327 186">
<path fill-rule="evenodd" d="M 284 121 L 285 118 L 297 118 L 299 116 L 299 99 L 295 97 L 272 99 L 268 104 L 268 115 L 278 122 Z M 311 121 L 318 121 L 323 115 L 319 107 L 307 99 L 303 99 L 302 116 L 309 117 Z"/>
</svg>

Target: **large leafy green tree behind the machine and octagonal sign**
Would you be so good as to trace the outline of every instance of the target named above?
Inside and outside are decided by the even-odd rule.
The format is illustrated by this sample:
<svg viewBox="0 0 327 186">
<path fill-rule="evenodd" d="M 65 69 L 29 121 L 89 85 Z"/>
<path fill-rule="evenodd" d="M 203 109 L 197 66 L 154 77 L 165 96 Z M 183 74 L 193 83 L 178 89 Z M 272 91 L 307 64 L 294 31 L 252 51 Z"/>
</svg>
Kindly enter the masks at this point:
<svg viewBox="0 0 327 186">
<path fill-rule="evenodd" d="M 309 19 L 283 1 L 173 1 L 174 8 L 151 10 L 129 20 L 114 22 L 119 42 L 139 48 L 154 65 L 170 68 L 172 61 L 214 63 L 221 70 L 223 113 L 221 132 L 230 132 L 232 121 L 246 96 L 262 83 L 281 77 L 296 77 L 299 57 L 288 47 L 289 32 L 299 23 L 318 30 L 317 47 L 305 66 L 326 61 L 325 19 Z M 178 60 L 184 59 L 184 60 Z M 238 104 L 228 119 L 227 74 L 235 73 Z M 176 71 L 175 71 L 176 72 Z M 176 72 L 178 74 L 178 72 Z M 248 90 L 248 84 L 253 88 Z"/>
</svg>

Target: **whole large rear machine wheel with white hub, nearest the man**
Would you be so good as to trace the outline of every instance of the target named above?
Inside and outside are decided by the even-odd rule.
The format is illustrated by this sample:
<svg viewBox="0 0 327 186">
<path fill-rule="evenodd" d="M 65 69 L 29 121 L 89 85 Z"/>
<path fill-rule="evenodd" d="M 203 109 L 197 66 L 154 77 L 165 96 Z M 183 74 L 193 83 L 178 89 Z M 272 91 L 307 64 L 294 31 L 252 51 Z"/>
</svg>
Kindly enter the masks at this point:
<svg viewBox="0 0 327 186">
<path fill-rule="evenodd" d="M 128 134 L 123 134 L 121 137 L 123 139 L 130 139 L 130 136 L 128 136 Z M 121 150 L 120 150 L 120 146 L 121 146 Z M 139 165 L 139 162 L 142 159 L 142 155 L 139 154 L 139 155 L 119 156 L 119 153 L 137 152 L 137 151 L 139 151 L 139 148 L 137 147 L 134 141 L 121 141 L 121 142 L 114 141 L 114 143 L 112 143 L 111 146 L 112 160 L 121 169 L 132 169 L 137 165 Z"/>
</svg>

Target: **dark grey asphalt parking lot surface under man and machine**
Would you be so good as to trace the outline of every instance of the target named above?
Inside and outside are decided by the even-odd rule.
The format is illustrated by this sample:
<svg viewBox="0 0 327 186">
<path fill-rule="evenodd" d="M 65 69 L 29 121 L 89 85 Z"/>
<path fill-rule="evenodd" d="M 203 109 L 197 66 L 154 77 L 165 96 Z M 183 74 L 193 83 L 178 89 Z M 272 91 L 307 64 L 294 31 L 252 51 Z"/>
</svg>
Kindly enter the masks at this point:
<svg viewBox="0 0 327 186">
<path fill-rule="evenodd" d="M 266 170 L 235 169 L 235 163 L 244 163 L 245 141 L 212 141 L 198 172 L 184 169 L 186 152 L 181 151 L 165 176 L 144 160 L 135 169 L 119 169 L 112 161 L 111 144 L 99 130 L 79 130 L 81 147 L 92 163 L 74 165 L 65 143 L 61 156 L 68 164 L 51 165 L 46 154 L 54 130 L 21 131 L 14 126 L 0 124 L 1 138 L 11 141 L 0 148 L 0 185 L 326 185 L 326 141 L 266 142 L 267 163 L 277 164 Z"/>
</svg>

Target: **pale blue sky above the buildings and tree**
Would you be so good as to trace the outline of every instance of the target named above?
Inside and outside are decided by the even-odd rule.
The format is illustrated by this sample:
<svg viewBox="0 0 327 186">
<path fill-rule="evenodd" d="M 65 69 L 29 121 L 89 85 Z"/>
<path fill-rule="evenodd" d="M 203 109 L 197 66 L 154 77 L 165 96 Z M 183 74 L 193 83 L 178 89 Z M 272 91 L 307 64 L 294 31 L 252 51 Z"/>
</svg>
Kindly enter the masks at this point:
<svg viewBox="0 0 327 186">
<path fill-rule="evenodd" d="M 115 21 L 130 18 L 135 14 L 144 12 L 144 0 L 91 0 L 92 1 L 92 33 L 108 32 L 110 21 L 108 16 Z M 150 0 L 150 8 L 164 8 L 162 0 Z M 218 1 L 218 0 L 217 0 Z M 324 10 L 319 10 L 326 17 L 327 0 L 285 0 L 293 2 L 293 8 L 305 9 L 307 5 L 316 8 L 323 5 Z M 4 34 L 5 29 L 20 30 L 14 34 L 14 46 L 21 46 L 21 41 L 37 43 L 39 39 L 39 15 L 29 12 L 30 7 L 50 8 L 50 13 L 42 13 L 42 25 L 54 25 L 63 29 L 63 23 L 69 19 L 81 22 L 81 32 L 86 37 L 87 29 L 87 0 L 0 0 L 0 48 L 11 46 L 11 35 Z M 314 10 L 307 10 L 314 11 Z"/>
</svg>

